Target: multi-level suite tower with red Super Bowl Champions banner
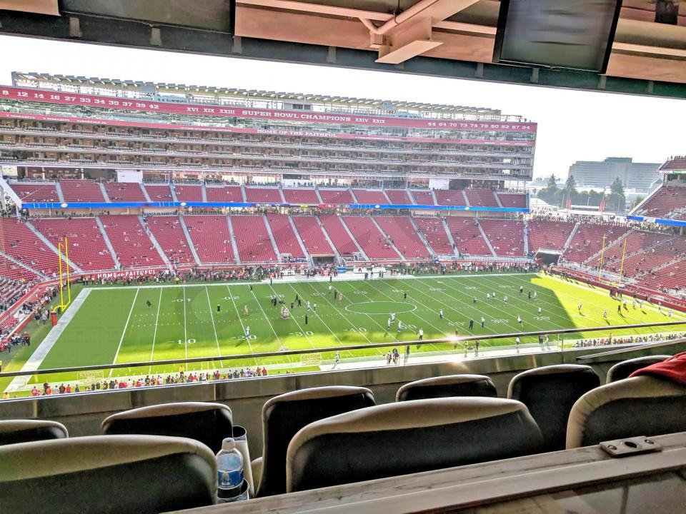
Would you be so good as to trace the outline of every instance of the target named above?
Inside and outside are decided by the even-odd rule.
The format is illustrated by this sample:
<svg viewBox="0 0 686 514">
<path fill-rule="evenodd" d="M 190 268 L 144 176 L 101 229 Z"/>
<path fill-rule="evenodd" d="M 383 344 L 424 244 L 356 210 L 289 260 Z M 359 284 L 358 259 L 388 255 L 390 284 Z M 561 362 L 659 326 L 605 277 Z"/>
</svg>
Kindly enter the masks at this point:
<svg viewBox="0 0 686 514">
<path fill-rule="evenodd" d="M 15 72 L 0 163 L 21 178 L 517 187 L 537 125 L 497 109 Z"/>
</svg>

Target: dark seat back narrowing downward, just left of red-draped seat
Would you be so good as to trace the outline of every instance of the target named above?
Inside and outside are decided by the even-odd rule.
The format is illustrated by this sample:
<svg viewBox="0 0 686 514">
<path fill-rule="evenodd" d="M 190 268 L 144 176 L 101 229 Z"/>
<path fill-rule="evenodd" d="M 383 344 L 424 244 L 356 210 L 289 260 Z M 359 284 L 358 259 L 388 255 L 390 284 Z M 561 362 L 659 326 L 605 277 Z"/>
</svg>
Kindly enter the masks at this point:
<svg viewBox="0 0 686 514">
<path fill-rule="evenodd" d="M 572 405 L 582 394 L 600 385 L 600 377 L 590 366 L 560 364 L 534 368 L 512 378 L 507 398 L 527 405 L 543 440 L 543 451 L 565 449 L 567 419 Z"/>
</svg>

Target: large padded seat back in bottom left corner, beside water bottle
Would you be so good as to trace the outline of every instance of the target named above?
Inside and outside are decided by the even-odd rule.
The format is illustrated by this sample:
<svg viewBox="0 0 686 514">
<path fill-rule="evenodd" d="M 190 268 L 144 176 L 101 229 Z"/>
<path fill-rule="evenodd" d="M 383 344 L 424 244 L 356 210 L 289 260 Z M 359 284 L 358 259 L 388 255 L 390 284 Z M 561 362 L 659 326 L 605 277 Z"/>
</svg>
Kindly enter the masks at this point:
<svg viewBox="0 0 686 514">
<path fill-rule="evenodd" d="M 217 464 L 185 438 L 94 435 L 0 446 L 0 510 L 153 514 L 212 505 Z"/>
</svg>

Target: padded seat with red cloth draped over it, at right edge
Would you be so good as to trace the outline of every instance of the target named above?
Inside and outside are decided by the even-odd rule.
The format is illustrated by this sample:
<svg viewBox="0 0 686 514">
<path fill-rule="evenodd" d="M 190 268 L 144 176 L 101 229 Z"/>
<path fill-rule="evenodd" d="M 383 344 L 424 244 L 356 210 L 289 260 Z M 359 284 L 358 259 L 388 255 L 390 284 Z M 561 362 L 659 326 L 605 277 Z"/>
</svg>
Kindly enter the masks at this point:
<svg viewBox="0 0 686 514">
<path fill-rule="evenodd" d="M 686 385 L 652 376 L 612 382 L 583 395 L 567 425 L 567 448 L 686 431 Z"/>
</svg>

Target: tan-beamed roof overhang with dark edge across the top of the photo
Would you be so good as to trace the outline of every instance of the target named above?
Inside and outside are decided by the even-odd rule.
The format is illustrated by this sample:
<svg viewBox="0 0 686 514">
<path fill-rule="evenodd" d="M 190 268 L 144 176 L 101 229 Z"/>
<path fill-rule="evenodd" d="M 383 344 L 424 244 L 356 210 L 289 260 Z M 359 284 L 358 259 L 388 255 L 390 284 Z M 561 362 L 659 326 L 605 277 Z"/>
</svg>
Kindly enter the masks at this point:
<svg viewBox="0 0 686 514">
<path fill-rule="evenodd" d="M 592 10 L 603 3 L 615 16 L 595 23 L 605 35 L 587 45 L 595 45 L 605 56 L 602 69 L 565 69 L 568 66 L 555 59 L 563 60 L 579 47 L 572 39 L 582 37 L 591 21 L 600 19 Z M 500 44 L 507 41 L 503 37 L 515 25 L 515 4 L 515 0 L 0 0 L 0 34 L 686 97 L 686 13 L 679 14 L 678 0 L 527 0 L 530 9 L 538 10 L 526 14 L 531 24 L 529 18 L 520 17 L 519 27 L 526 34 L 515 42 L 540 44 L 540 33 L 535 31 L 544 27 L 553 39 L 560 36 L 562 42 L 552 44 L 562 45 L 562 51 L 547 63 L 496 64 L 502 55 Z M 509 7 L 509 14 L 507 9 L 501 12 L 503 5 Z M 556 19 L 560 9 L 567 13 Z M 581 28 L 574 26 L 577 18 L 582 20 Z M 561 20 L 564 23 L 558 27 Z"/>
</svg>

